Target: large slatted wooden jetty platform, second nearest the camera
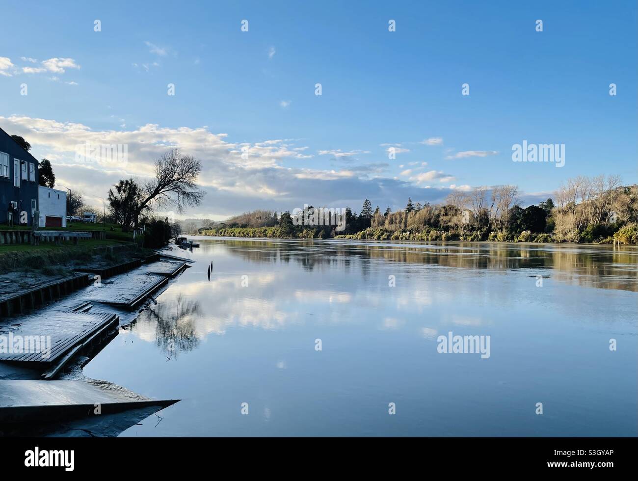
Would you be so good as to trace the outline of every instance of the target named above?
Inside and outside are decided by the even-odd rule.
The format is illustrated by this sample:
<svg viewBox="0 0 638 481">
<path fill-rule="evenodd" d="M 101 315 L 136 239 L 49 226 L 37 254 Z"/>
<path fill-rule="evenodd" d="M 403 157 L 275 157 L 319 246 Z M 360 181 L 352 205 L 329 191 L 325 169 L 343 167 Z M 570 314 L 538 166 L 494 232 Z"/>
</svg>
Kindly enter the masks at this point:
<svg viewBox="0 0 638 481">
<path fill-rule="evenodd" d="M 77 309 L 83 309 L 80 304 Z M 0 344 L 0 361 L 19 363 L 43 371 L 53 379 L 77 353 L 117 332 L 115 313 L 46 311 L 0 325 L 7 339 Z"/>
</svg>

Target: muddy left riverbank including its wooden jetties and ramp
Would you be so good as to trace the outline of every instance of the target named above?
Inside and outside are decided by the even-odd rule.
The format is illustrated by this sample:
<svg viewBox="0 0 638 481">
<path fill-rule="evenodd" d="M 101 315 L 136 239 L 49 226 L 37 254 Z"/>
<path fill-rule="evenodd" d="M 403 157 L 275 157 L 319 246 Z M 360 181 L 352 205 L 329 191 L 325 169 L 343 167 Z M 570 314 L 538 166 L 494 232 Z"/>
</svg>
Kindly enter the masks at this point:
<svg viewBox="0 0 638 481">
<path fill-rule="evenodd" d="M 142 302 L 163 290 L 188 267 L 186 262 L 162 259 L 161 253 L 137 244 L 50 249 L 13 257 L 4 259 L 12 270 L 0 275 L 0 286 L 11 285 L 13 292 L 9 300 L 0 295 L 4 434 L 68 436 L 82 431 L 117 436 L 179 401 L 151 399 L 87 378 L 82 368 L 121 333 L 122 326 L 137 320 L 144 310 Z M 56 278 L 43 274 L 47 269 L 71 278 L 47 283 L 44 279 Z M 96 402 L 101 404 L 99 412 Z"/>
</svg>

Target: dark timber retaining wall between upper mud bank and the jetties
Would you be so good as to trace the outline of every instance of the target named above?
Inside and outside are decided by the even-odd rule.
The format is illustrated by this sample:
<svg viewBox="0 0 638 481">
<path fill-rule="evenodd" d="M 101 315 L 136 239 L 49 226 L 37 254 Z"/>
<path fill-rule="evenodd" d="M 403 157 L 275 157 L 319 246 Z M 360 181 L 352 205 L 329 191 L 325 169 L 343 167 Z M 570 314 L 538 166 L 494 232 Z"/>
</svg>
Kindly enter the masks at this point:
<svg viewBox="0 0 638 481">
<path fill-rule="evenodd" d="M 89 285 L 87 274 L 77 274 L 43 284 L 19 294 L 0 299 L 0 318 L 21 314 L 27 309 L 41 306 L 45 302 L 63 297 L 71 292 Z"/>
</svg>

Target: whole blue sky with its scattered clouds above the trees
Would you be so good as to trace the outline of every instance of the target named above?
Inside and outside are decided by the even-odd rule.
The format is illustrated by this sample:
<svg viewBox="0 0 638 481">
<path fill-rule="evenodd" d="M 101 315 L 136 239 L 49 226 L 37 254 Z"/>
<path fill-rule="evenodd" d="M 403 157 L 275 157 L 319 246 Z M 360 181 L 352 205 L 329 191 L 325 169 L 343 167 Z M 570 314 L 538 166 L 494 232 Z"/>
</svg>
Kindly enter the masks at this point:
<svg viewBox="0 0 638 481">
<path fill-rule="evenodd" d="M 0 127 L 97 196 L 181 147 L 208 194 L 189 216 L 398 208 L 495 184 L 536 202 L 577 175 L 637 181 L 636 14 L 635 1 L 4 2 Z M 100 139 L 127 144 L 126 165 L 77 165 L 74 145 Z M 565 166 L 512 162 L 523 140 L 565 144 Z"/>
</svg>

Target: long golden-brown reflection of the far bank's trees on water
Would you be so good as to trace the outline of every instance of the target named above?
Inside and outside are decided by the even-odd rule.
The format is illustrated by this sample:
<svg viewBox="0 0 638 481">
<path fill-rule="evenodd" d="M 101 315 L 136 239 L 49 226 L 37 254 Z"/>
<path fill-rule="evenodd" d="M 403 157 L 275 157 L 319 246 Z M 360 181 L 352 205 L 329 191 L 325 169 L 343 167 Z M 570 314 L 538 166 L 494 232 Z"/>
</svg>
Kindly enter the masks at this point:
<svg viewBox="0 0 638 481">
<path fill-rule="evenodd" d="M 577 285 L 638 291 L 638 250 L 609 246 L 470 243 L 348 244 L 346 242 L 226 241 L 230 252 L 251 262 L 297 262 L 304 270 L 375 270 L 374 260 L 488 270 L 530 269 L 533 274 Z M 550 270 L 551 272 L 538 272 Z"/>
</svg>

